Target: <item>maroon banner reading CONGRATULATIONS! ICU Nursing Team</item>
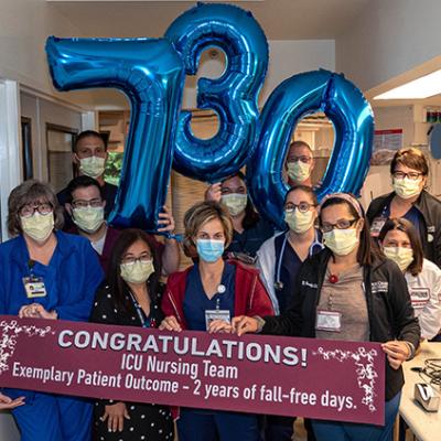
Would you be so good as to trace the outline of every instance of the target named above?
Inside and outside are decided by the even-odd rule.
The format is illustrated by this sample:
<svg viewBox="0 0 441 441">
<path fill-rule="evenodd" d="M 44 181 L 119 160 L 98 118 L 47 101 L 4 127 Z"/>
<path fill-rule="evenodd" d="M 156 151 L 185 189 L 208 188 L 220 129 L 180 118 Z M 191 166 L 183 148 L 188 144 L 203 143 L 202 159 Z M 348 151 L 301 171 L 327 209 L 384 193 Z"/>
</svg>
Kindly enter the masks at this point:
<svg viewBox="0 0 441 441">
<path fill-rule="evenodd" d="M 0 386 L 384 423 L 377 343 L 170 333 L 0 315 Z"/>
</svg>

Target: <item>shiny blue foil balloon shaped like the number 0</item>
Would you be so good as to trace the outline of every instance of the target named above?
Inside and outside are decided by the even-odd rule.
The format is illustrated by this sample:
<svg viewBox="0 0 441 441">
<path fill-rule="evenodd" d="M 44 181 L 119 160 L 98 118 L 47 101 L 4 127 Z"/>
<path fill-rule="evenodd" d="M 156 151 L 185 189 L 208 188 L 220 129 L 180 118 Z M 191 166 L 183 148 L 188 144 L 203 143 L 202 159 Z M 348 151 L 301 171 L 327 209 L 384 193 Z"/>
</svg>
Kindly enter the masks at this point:
<svg viewBox="0 0 441 441">
<path fill-rule="evenodd" d="M 281 83 L 260 116 L 257 148 L 247 165 L 251 198 L 266 218 L 284 229 L 283 201 L 289 190 L 282 178 L 294 126 L 309 114 L 324 111 L 334 125 L 334 148 L 318 191 L 358 194 L 372 154 L 374 116 L 362 92 L 343 75 L 314 71 Z"/>
</svg>

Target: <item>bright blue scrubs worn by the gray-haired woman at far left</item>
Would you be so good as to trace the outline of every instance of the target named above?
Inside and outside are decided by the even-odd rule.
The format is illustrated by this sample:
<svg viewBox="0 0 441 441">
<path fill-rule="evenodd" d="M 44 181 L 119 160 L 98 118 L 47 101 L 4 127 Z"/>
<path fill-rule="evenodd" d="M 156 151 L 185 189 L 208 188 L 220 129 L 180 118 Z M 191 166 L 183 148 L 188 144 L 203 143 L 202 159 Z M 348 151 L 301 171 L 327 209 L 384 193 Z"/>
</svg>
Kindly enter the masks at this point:
<svg viewBox="0 0 441 441">
<path fill-rule="evenodd" d="M 56 232 L 57 245 L 47 266 L 31 262 L 22 236 L 0 245 L 0 314 L 17 315 L 21 306 L 40 303 L 61 320 L 87 321 L 103 270 L 89 241 Z M 46 295 L 28 299 L 23 277 L 41 277 Z M 22 441 L 89 441 L 92 404 L 82 398 L 20 389 L 4 389 L 11 398 L 25 397 L 12 411 Z"/>
</svg>

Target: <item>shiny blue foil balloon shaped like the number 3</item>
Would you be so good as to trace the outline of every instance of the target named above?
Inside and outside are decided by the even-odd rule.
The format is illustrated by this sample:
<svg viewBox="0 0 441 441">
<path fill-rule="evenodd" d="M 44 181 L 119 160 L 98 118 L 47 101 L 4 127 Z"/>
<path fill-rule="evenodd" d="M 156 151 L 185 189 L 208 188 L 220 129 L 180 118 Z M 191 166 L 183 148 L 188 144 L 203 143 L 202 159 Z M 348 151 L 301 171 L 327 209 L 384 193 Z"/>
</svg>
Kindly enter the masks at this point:
<svg viewBox="0 0 441 441">
<path fill-rule="evenodd" d="M 250 12 L 213 3 L 198 3 L 184 12 L 165 37 L 182 55 L 187 75 L 196 74 L 205 49 L 217 46 L 226 55 L 223 75 L 201 78 L 197 85 L 197 106 L 217 114 L 218 133 L 207 140 L 195 138 L 191 112 L 181 112 L 173 158 L 180 173 L 216 182 L 239 170 L 256 146 L 257 96 L 267 73 L 267 39 Z"/>
</svg>

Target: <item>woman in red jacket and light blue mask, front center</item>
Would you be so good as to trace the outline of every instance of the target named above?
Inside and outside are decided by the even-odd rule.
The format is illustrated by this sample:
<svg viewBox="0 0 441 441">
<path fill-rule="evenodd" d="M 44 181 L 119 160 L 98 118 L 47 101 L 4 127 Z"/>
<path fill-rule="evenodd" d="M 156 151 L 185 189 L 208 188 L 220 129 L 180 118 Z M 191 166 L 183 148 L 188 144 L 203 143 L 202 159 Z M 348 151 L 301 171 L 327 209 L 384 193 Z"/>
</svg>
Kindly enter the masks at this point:
<svg viewBox="0 0 441 441">
<path fill-rule="evenodd" d="M 184 248 L 198 261 L 169 277 L 162 299 L 168 331 L 230 332 L 238 314 L 272 314 L 271 301 L 258 271 L 222 256 L 233 237 L 227 209 L 216 202 L 194 205 L 185 214 Z M 181 409 L 180 441 L 258 441 L 257 417 L 249 413 Z"/>
</svg>

